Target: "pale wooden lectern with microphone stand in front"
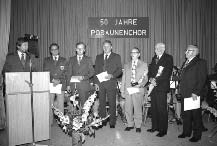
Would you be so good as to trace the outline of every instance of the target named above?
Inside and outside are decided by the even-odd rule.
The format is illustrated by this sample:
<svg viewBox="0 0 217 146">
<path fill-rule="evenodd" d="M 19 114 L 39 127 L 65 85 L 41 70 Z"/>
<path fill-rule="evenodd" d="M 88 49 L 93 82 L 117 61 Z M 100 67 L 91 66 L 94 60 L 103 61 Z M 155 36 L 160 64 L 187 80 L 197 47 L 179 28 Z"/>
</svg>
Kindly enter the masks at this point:
<svg viewBox="0 0 217 146">
<path fill-rule="evenodd" d="M 5 74 L 9 146 L 32 143 L 30 73 Z M 32 72 L 35 142 L 50 139 L 49 72 Z"/>
</svg>

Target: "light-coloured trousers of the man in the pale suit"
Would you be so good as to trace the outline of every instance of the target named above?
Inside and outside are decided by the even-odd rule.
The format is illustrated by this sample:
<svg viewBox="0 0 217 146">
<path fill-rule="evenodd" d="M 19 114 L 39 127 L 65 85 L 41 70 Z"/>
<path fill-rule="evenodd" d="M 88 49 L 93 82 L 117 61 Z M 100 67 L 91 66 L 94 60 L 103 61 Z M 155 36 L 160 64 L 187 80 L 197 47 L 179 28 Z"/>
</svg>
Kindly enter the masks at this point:
<svg viewBox="0 0 217 146">
<path fill-rule="evenodd" d="M 142 105 L 143 93 L 127 94 L 125 97 L 125 114 L 127 118 L 127 126 L 136 128 L 142 126 Z"/>
</svg>

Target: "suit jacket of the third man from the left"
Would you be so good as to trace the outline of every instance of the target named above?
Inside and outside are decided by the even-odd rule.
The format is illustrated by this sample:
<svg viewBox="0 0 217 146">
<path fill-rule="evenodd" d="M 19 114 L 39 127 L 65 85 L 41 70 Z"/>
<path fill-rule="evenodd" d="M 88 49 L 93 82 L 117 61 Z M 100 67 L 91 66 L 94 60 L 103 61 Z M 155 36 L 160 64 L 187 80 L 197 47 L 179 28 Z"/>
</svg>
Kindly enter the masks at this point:
<svg viewBox="0 0 217 146">
<path fill-rule="evenodd" d="M 94 69 L 91 57 L 84 55 L 80 62 L 80 65 L 78 64 L 77 56 L 70 57 L 68 62 L 67 85 L 72 85 L 73 87 L 73 83 L 70 83 L 70 79 L 72 76 L 83 76 L 84 79 L 76 85 L 81 90 L 89 91 L 89 79 L 93 77 L 93 75 Z"/>
</svg>

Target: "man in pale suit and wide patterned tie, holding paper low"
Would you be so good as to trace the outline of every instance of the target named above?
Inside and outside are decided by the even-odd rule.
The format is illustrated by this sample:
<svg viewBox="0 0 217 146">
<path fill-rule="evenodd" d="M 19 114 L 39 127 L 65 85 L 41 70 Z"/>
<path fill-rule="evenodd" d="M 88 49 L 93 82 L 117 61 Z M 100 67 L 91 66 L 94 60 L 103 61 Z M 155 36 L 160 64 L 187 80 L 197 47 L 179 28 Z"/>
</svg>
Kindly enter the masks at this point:
<svg viewBox="0 0 217 146">
<path fill-rule="evenodd" d="M 144 97 L 144 85 L 148 81 L 148 65 L 140 60 L 140 49 L 134 47 L 131 52 L 131 61 L 124 65 L 121 82 L 121 95 L 126 99 L 125 114 L 127 127 L 125 131 L 136 128 L 141 132 L 142 106 Z"/>
</svg>

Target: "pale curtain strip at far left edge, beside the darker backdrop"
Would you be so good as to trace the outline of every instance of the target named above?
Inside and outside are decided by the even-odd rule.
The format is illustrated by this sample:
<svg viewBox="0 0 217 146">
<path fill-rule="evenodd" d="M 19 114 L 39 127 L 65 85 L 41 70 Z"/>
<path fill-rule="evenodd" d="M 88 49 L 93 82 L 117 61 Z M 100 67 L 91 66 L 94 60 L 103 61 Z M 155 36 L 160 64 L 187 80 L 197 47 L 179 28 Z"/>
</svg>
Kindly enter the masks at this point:
<svg viewBox="0 0 217 146">
<path fill-rule="evenodd" d="M 0 0 L 0 71 L 3 68 L 10 33 L 11 0 Z M 1 81 L 1 74 L 0 74 Z"/>
</svg>

